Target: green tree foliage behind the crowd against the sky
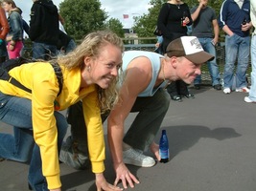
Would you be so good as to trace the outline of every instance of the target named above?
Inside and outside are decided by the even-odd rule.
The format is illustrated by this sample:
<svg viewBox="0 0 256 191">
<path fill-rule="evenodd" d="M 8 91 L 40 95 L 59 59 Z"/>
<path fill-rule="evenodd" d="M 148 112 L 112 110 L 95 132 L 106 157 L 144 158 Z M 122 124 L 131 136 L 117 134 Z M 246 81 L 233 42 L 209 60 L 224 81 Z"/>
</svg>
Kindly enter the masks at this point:
<svg viewBox="0 0 256 191">
<path fill-rule="evenodd" d="M 139 37 L 154 37 L 153 30 L 162 4 L 166 0 L 151 0 L 151 8 L 148 13 L 134 16 L 133 31 Z M 187 0 L 190 8 L 198 5 L 198 0 Z M 221 9 L 222 0 L 208 0 L 208 6 L 212 7 L 217 15 Z M 115 18 L 108 18 L 107 12 L 101 9 L 99 0 L 64 0 L 59 4 L 59 13 L 64 18 L 64 28 L 75 39 L 81 39 L 86 33 L 108 29 L 124 37 L 123 25 Z"/>
</svg>

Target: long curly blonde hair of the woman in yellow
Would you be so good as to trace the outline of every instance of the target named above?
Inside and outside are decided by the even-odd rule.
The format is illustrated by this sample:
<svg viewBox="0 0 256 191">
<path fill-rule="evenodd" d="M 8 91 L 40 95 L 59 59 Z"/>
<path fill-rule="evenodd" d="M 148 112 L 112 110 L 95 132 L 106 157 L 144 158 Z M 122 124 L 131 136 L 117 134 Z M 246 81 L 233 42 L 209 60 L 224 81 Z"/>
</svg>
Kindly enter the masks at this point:
<svg viewBox="0 0 256 191">
<path fill-rule="evenodd" d="M 67 70 L 82 69 L 84 67 L 83 58 L 85 56 L 92 57 L 93 59 L 99 57 L 102 53 L 102 49 L 108 44 L 118 47 L 121 52 L 124 53 L 123 41 L 114 32 L 91 32 L 83 38 L 81 44 L 74 51 L 59 56 L 57 59 L 58 64 L 63 65 Z M 99 104 L 102 112 L 110 110 L 117 102 L 117 85 L 119 79 L 120 77 L 118 75 L 106 89 L 102 89 L 98 86 Z"/>
</svg>

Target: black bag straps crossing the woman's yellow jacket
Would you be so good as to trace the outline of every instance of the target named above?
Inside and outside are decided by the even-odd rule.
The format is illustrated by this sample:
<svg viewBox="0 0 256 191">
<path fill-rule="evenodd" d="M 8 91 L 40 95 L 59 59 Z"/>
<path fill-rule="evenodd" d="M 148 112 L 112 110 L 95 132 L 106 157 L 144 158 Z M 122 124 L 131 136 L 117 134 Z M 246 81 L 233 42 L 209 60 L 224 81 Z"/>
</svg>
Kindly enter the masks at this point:
<svg viewBox="0 0 256 191">
<path fill-rule="evenodd" d="M 63 74 L 62 74 L 61 68 L 58 65 L 58 62 L 53 62 L 50 64 L 53 67 L 55 74 L 57 76 L 57 79 L 58 79 L 58 96 L 59 96 L 61 94 L 62 86 L 63 86 Z M 27 88 L 26 86 L 21 84 L 19 81 L 17 81 L 15 78 L 13 78 L 8 73 L 8 71 L 4 70 L 2 67 L 0 67 L 0 78 L 3 80 L 7 80 L 8 82 L 12 83 L 12 85 L 14 85 L 28 93 L 32 93 L 31 89 Z"/>
</svg>

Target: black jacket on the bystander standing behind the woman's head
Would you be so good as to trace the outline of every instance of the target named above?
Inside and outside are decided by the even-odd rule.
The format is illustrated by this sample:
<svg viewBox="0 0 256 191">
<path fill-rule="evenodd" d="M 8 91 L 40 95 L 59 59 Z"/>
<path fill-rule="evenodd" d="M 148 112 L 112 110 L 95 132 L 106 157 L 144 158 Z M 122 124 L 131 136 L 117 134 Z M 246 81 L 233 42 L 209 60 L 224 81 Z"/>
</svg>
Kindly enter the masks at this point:
<svg viewBox="0 0 256 191">
<path fill-rule="evenodd" d="M 35 1 L 31 8 L 30 39 L 49 45 L 58 43 L 58 9 L 51 0 Z"/>
</svg>

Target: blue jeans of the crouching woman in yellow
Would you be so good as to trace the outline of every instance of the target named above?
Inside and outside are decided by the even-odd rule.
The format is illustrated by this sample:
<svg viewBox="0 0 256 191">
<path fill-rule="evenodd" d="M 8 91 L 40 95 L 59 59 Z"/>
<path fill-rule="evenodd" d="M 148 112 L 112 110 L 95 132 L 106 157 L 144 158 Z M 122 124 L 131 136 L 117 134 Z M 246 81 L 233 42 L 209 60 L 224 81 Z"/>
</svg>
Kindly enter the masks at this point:
<svg viewBox="0 0 256 191">
<path fill-rule="evenodd" d="M 55 112 L 58 127 L 58 152 L 66 135 L 66 118 Z M 0 133 L 0 157 L 30 163 L 29 182 L 36 191 L 46 191 L 39 147 L 33 138 L 32 102 L 0 92 L 0 120 L 13 126 L 13 135 Z"/>
</svg>

